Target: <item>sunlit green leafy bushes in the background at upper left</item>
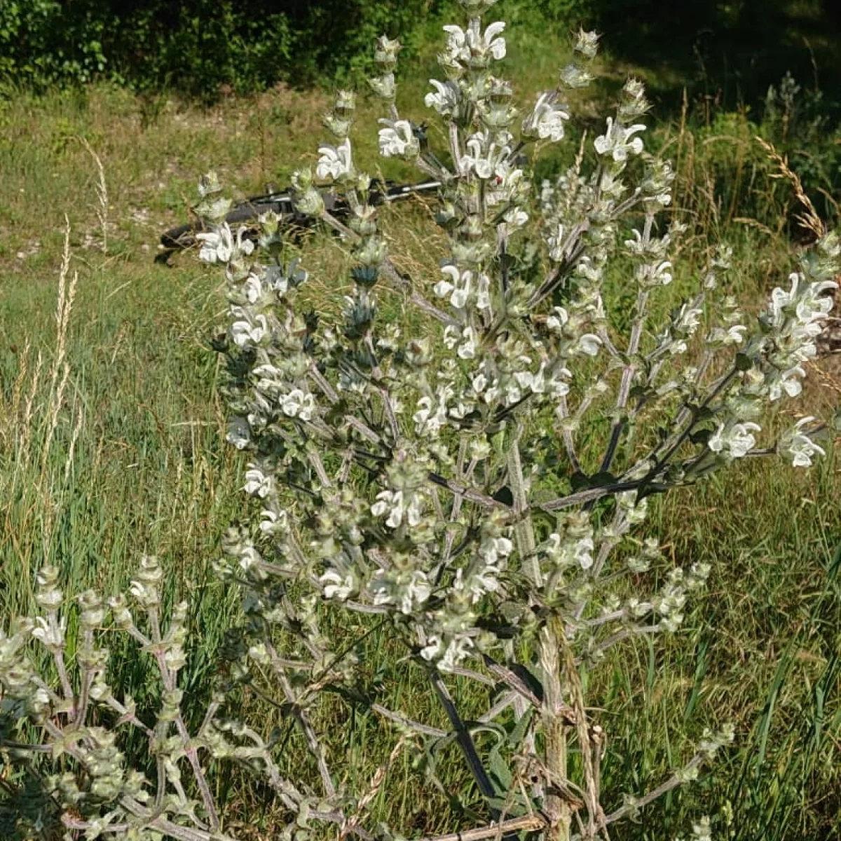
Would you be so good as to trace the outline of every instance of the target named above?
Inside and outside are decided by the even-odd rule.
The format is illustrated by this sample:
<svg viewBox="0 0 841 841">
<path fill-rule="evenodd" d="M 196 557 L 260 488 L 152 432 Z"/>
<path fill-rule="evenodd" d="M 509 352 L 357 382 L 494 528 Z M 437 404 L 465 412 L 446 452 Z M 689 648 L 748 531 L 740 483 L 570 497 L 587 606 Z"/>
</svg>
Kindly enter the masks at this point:
<svg viewBox="0 0 841 841">
<path fill-rule="evenodd" d="M 408 33 L 442 0 L 244 5 L 233 0 L 9 0 L 0 5 L 0 81 L 44 88 L 108 77 L 213 97 L 346 72 L 383 31 Z M 362 62 L 364 63 L 364 62 Z"/>
</svg>

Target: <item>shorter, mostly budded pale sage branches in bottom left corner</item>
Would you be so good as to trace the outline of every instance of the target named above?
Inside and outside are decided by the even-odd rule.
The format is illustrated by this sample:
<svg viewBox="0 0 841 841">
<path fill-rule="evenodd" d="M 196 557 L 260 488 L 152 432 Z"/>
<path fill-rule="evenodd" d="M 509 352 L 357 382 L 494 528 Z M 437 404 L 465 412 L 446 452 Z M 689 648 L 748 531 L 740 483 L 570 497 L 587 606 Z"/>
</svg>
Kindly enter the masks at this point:
<svg viewBox="0 0 841 841">
<path fill-rule="evenodd" d="M 169 616 L 163 615 L 163 570 L 156 558 L 140 560 L 128 597 L 106 601 L 87 590 L 77 597 L 75 608 L 66 605 L 55 567 L 41 569 L 37 582 L 36 602 L 43 614 L 13 622 L 8 632 L 0 629 L 0 690 L 5 714 L 39 725 L 41 742 L 32 747 L 61 758 L 56 773 L 45 776 L 43 784 L 61 808 L 68 833 L 184 841 L 201 841 L 212 833 L 220 841 L 233 841 L 221 831 L 206 771 L 198 761 L 197 748 L 213 743 L 209 734 L 220 703 L 214 701 L 204 724 L 190 733 L 177 685 L 187 662 L 188 606 L 179 603 Z M 66 638 L 68 624 L 75 629 L 72 640 Z M 161 690 L 151 722 L 140 716 L 129 695 L 108 683 L 106 628 L 110 636 L 124 632 L 151 655 Z M 51 669 L 44 669 L 45 655 Z M 130 730 L 150 744 L 155 778 L 128 764 L 121 746 Z M 28 747 L 19 745 L 24 751 Z M 198 801 L 182 784 L 185 772 L 193 776 Z"/>
</svg>

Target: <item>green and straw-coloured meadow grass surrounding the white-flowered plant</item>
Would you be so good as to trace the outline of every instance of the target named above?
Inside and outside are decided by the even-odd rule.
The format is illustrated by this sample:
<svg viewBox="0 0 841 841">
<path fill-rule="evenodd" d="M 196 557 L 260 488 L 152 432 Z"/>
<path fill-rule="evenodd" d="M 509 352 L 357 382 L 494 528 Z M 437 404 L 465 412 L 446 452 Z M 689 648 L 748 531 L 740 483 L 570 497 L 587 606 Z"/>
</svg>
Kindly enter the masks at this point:
<svg viewBox="0 0 841 841">
<path fill-rule="evenodd" d="M 538 50 L 535 36 L 521 36 L 534 56 L 516 66 L 524 91 L 551 85 L 559 44 Z M 407 113 L 419 118 L 421 89 L 401 94 L 414 95 Z M 197 642 L 184 674 L 193 715 L 235 616 L 234 599 L 214 583 L 210 564 L 221 533 L 246 514 L 238 490 L 244 465 L 224 443 L 217 362 L 206 345 L 224 313 L 220 278 L 189 256 L 172 267 L 152 258 L 161 231 L 185 218 L 204 170 L 215 167 L 247 194 L 268 180 L 285 182 L 297 161 L 312 160 L 326 104 L 322 93 L 278 88 L 205 110 L 166 99 L 150 105 L 111 87 L 0 103 L 0 616 L 29 609 L 43 563 L 60 567 L 68 592 L 96 585 L 110 593 L 124 590 L 141 554 L 159 555 L 168 598 L 188 593 L 194 600 Z M 370 115 L 370 103 L 362 111 Z M 108 185 L 104 254 L 98 170 L 80 138 L 100 157 Z M 655 133 L 655 143 L 669 145 L 679 160 L 680 205 L 697 222 L 680 254 L 687 279 L 674 295 L 692 288 L 721 234 L 736 245 L 733 294 L 755 308 L 785 277 L 785 233 L 768 220 L 785 214 L 789 199 L 765 178 L 770 167 L 743 127 L 727 149 L 742 150 L 754 169 L 727 168 L 733 156 L 708 140 L 691 121 L 661 124 Z M 368 136 L 360 154 L 373 160 L 373 150 Z M 403 173 L 394 167 L 386 174 Z M 722 182 L 731 191 L 724 198 Z M 429 215 L 403 207 L 387 228 L 418 277 L 436 271 Z M 738 221 L 748 216 L 755 224 Z M 72 255 L 65 283 L 75 272 L 78 281 L 62 334 L 54 314 L 65 217 Z M 309 294 L 330 318 L 341 302 L 347 256 L 320 235 L 305 239 L 302 250 L 313 278 Z M 621 272 L 615 283 L 611 295 L 621 299 Z M 383 299 L 397 315 L 398 296 Z M 826 366 L 815 373 L 822 384 L 807 389 L 801 408 L 826 414 L 841 393 L 838 373 Z M 670 838 L 707 812 L 727 837 L 720 817 L 727 804 L 739 841 L 828 841 L 841 833 L 838 473 L 831 454 L 808 473 L 750 463 L 655 506 L 648 528 L 669 547 L 669 561 L 712 563 L 711 592 L 674 639 L 617 650 L 590 675 L 591 696 L 606 707 L 606 805 L 616 806 L 618 792 L 656 784 L 688 757 L 706 726 L 735 722 L 738 743 L 699 784 L 650 807 L 617 837 Z M 422 681 L 395 657 L 388 633 L 374 632 L 371 680 L 393 706 L 442 724 Z M 114 669 L 114 684 L 139 692 L 142 708 L 142 661 L 115 659 Z M 482 699 L 459 684 L 457 701 L 469 717 Z M 350 733 L 350 743 L 332 745 L 346 751 L 348 780 L 369 780 L 388 749 L 389 728 L 338 700 L 320 716 L 328 729 L 332 722 L 337 733 Z M 279 713 L 275 722 L 268 718 L 283 725 Z M 338 726 L 348 720 L 349 728 Z M 292 738 L 283 761 L 305 767 L 303 756 Z M 455 749 L 441 761 L 447 788 L 469 791 Z M 255 838 L 272 837 L 273 813 L 258 787 L 229 772 L 215 785 L 227 791 L 234 825 L 251 822 Z M 452 828 L 442 824 L 446 807 L 447 796 L 424 786 L 407 759 L 372 814 L 433 833 Z M 257 823 L 249 817 L 255 811 Z"/>
</svg>

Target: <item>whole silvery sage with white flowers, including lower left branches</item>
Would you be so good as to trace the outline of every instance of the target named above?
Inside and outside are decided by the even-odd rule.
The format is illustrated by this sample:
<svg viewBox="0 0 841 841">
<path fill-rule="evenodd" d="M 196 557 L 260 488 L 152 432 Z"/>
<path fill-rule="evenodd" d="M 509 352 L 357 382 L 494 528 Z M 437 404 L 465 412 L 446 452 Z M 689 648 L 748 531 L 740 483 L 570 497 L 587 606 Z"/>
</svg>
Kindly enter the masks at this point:
<svg viewBox="0 0 841 841">
<path fill-rule="evenodd" d="M 727 726 L 705 733 L 650 791 L 602 791 L 609 733 L 584 672 L 616 645 L 677 632 L 711 572 L 688 558 L 659 587 L 639 583 L 662 563 L 657 538 L 643 531 L 653 495 L 744 458 L 807 467 L 822 454 L 823 426 L 813 418 L 778 437 L 768 426 L 770 413 L 801 392 L 841 241 L 818 230 L 817 245 L 758 317 L 727 297 L 722 246 L 696 294 L 656 319 L 682 230 L 664 214 L 674 172 L 645 151 L 643 85 L 626 83 L 600 134 L 571 140 L 570 101 L 590 82 L 598 41 L 582 31 L 557 87 L 518 113 L 498 70 L 505 24 L 484 20 L 494 3 L 459 0 L 463 25 L 445 27 L 442 78 L 425 100 L 431 126 L 397 108 L 399 43 L 383 37 L 376 47 L 380 154 L 442 184 L 436 221 L 447 250 L 433 277 L 392 262 L 372 178 L 354 154 L 352 93 L 338 93 L 325 116 L 332 137 L 315 170 L 294 176 L 299 212 L 352 251 L 341 319 L 309 309 L 307 272 L 288 257 L 277 216 L 260 220 L 255 247 L 225 223 L 230 205 L 218 179 L 201 182 L 198 212 L 209 230 L 199 235 L 199 257 L 224 267 L 230 301 L 214 340 L 227 365 L 228 440 L 247 459 L 245 490 L 259 512 L 230 529 L 217 565 L 242 592 L 227 688 L 251 685 L 257 702 L 282 708 L 314 774 L 290 776 L 284 769 L 303 764 L 283 756 L 286 742 L 236 721 L 222 696 L 191 737 L 179 713 L 180 640 L 156 631 L 154 612 L 151 631 L 141 631 L 116 602 L 118 624 L 154 654 L 165 690 L 166 714 L 150 728 L 157 794 L 141 797 L 154 786 L 122 770 L 119 757 L 110 787 L 94 791 L 103 766 L 93 754 L 112 744 L 103 747 L 113 730 L 82 727 L 87 707 L 78 697 L 118 712 L 114 728 L 148 726 L 107 688 L 93 693 L 100 667 L 83 666 L 76 690 L 56 660 L 64 688 L 55 690 L 24 658 L 28 637 L 56 657 L 63 650 L 57 605 L 49 606 L 45 621 L 3 637 L 0 680 L 6 698 L 25 706 L 15 710 L 44 728 L 44 743 L 66 745 L 87 771 L 78 795 L 70 780 L 55 783 L 75 810 L 66 812 L 71 830 L 221 838 L 203 770 L 213 755 L 262 775 L 289 816 L 284 837 L 332 825 L 340 838 L 401 838 L 405 828 L 373 822 L 373 799 L 387 793 L 404 751 L 425 758 L 431 785 L 442 786 L 434 758 L 455 742 L 473 778 L 452 813 L 463 838 L 607 838 L 611 825 L 695 779 L 733 738 Z M 536 184 L 525 161 L 564 142 L 578 150 L 573 166 Z M 348 220 L 331 214 L 325 190 L 346 201 Z M 609 272 L 632 290 L 625 319 L 606 311 Z M 411 319 L 380 315 L 383 287 L 402 293 Z M 148 612 L 145 586 L 132 595 Z M 379 696 L 360 659 L 375 626 L 389 629 L 426 680 L 446 727 Z M 456 679 L 478 685 L 484 710 L 468 717 L 458 708 Z M 341 736 L 320 730 L 320 704 L 338 690 L 394 731 L 393 749 L 359 790 L 348 785 Z M 485 733 L 497 737 L 494 748 Z M 182 767 L 192 771 L 186 788 Z M 87 804 L 83 819 L 79 804 Z M 709 827 L 701 819 L 695 837 L 709 837 Z"/>
</svg>

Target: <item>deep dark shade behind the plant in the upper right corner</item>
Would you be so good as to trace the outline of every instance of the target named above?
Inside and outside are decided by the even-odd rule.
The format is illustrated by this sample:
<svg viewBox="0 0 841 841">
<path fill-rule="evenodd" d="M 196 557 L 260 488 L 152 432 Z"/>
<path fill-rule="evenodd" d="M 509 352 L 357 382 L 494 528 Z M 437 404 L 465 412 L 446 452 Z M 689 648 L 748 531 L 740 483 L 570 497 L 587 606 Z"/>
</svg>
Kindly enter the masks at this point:
<svg viewBox="0 0 841 841">
<path fill-rule="evenodd" d="M 584 23 L 612 56 L 646 71 L 659 108 L 680 112 L 683 90 L 725 108 L 756 103 L 786 72 L 838 108 L 838 0 L 592 0 Z M 828 103 L 829 104 L 829 103 Z"/>
</svg>

